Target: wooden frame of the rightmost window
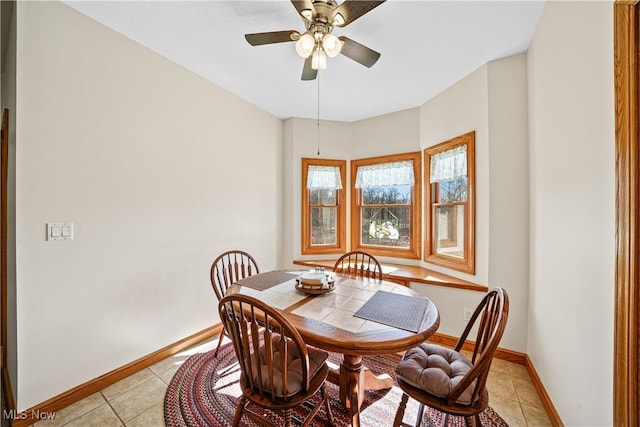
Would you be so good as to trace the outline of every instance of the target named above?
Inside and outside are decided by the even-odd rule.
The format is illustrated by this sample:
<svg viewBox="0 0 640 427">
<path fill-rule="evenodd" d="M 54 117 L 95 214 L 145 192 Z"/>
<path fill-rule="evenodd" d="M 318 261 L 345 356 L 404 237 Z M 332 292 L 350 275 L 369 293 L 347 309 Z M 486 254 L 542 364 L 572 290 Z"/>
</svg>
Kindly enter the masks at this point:
<svg viewBox="0 0 640 427">
<path fill-rule="evenodd" d="M 439 265 L 441 267 L 450 268 L 452 270 L 460 271 L 468 274 L 475 274 L 476 271 L 476 250 L 475 250 L 475 223 L 476 223 L 476 210 L 475 210 L 475 131 L 465 133 L 464 135 L 457 136 L 448 141 L 444 141 L 440 144 L 434 145 L 424 149 L 424 186 L 425 186 L 425 248 L 424 248 L 424 261 L 431 264 Z M 443 255 L 436 252 L 436 239 L 433 235 L 435 230 L 434 225 L 434 205 L 437 200 L 437 195 L 434 194 L 434 186 L 431 185 L 431 156 L 438 154 L 452 148 L 459 147 L 461 145 L 467 146 L 467 201 L 465 209 L 465 230 L 464 230 L 464 257 L 463 259 Z M 437 186 L 435 186 L 437 187 Z M 437 188 L 436 190 L 437 191 Z"/>
</svg>

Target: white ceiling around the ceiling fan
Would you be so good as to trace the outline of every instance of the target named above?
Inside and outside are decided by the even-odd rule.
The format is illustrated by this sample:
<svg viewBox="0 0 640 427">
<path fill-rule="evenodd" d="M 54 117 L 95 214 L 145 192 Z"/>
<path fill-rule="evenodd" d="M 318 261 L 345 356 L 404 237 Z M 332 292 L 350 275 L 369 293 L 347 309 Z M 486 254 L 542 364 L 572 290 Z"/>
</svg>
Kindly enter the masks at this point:
<svg viewBox="0 0 640 427">
<path fill-rule="evenodd" d="M 253 47 L 244 39 L 303 32 L 289 1 L 65 3 L 279 118 L 318 115 L 318 82 L 300 80 L 294 43 Z M 350 122 L 422 105 L 482 64 L 525 52 L 543 8 L 542 0 L 388 0 L 334 29 L 382 56 L 371 68 L 328 58 L 320 118 Z"/>
</svg>

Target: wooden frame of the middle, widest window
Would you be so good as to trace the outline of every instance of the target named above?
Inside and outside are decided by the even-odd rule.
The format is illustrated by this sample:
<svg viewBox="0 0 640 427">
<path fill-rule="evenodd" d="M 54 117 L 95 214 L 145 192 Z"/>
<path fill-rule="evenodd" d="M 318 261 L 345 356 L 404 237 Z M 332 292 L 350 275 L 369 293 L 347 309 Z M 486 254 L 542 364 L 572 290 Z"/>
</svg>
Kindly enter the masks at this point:
<svg viewBox="0 0 640 427">
<path fill-rule="evenodd" d="M 356 176 L 360 166 L 378 163 L 391 163 L 413 160 L 414 185 L 411 192 L 411 234 L 409 248 L 390 248 L 374 245 L 362 245 L 361 230 L 361 198 L 355 188 Z M 377 256 L 389 256 L 407 259 L 420 259 L 422 233 L 422 155 L 420 151 L 413 153 L 393 154 L 389 156 L 369 157 L 351 161 L 351 250 L 360 250 Z"/>
</svg>

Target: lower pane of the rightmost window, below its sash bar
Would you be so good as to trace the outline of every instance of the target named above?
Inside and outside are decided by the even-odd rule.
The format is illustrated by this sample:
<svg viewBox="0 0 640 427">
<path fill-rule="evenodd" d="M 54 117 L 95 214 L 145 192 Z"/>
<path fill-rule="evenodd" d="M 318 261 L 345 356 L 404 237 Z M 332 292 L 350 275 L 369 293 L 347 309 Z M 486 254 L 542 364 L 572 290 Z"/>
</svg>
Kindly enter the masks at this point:
<svg viewBox="0 0 640 427">
<path fill-rule="evenodd" d="M 464 205 L 435 207 L 436 253 L 464 258 Z"/>
</svg>

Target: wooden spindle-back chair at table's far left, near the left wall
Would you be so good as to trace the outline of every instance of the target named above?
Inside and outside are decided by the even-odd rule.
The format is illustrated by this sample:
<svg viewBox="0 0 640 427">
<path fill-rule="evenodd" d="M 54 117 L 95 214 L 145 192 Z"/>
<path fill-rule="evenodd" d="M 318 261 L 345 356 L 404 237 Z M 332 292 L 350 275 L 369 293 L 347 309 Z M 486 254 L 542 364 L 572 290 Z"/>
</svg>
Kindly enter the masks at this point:
<svg viewBox="0 0 640 427">
<path fill-rule="evenodd" d="M 218 301 L 226 295 L 229 286 L 240 279 L 260 273 L 258 263 L 247 252 L 232 250 L 220 254 L 211 264 L 211 286 L 216 293 Z M 228 336 L 224 324 L 218 339 L 215 356 L 222 345 L 225 336 Z"/>
</svg>

